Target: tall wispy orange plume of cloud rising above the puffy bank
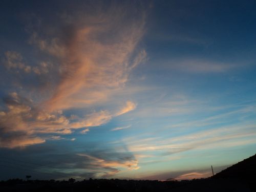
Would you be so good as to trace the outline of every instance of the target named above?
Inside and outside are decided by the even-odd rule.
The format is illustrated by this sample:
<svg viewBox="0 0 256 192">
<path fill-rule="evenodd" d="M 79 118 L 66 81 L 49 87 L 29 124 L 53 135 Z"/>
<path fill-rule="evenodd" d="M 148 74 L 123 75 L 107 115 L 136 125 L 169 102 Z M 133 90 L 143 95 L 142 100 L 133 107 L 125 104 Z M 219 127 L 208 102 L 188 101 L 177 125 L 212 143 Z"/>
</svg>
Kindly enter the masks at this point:
<svg viewBox="0 0 256 192">
<path fill-rule="evenodd" d="M 108 91 L 123 87 L 131 70 L 144 60 L 144 50 L 134 52 L 143 35 L 144 20 L 128 20 L 122 25 L 123 17 L 113 21 L 114 15 L 103 15 L 78 15 L 75 25 L 66 24 L 68 39 L 33 37 L 34 45 L 56 56 L 60 63 L 59 83 L 45 102 L 49 110 L 77 108 L 106 99 Z M 119 30 L 114 30 L 116 26 Z M 102 37 L 111 33 L 115 38 L 105 42 Z"/>
</svg>

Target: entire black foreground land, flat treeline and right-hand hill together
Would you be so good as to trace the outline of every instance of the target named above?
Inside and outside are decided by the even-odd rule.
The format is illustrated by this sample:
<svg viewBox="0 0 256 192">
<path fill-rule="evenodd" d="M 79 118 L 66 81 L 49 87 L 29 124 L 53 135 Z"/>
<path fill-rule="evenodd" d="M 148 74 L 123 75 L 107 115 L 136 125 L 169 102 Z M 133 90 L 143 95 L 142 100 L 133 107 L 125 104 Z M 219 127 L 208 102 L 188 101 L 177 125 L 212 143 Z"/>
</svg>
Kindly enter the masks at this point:
<svg viewBox="0 0 256 192">
<path fill-rule="evenodd" d="M 256 155 L 215 176 L 190 181 L 90 179 L 75 182 L 11 179 L 0 182 L 0 191 L 256 191 Z"/>
</svg>

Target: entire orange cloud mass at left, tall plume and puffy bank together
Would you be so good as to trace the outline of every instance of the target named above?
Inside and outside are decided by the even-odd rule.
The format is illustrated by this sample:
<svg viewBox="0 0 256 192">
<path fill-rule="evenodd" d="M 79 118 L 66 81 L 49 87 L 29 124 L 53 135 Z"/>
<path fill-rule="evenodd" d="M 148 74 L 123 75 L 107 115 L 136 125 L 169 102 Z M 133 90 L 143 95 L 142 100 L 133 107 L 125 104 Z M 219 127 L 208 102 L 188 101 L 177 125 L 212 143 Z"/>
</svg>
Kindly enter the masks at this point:
<svg viewBox="0 0 256 192">
<path fill-rule="evenodd" d="M 133 19 L 130 14 L 138 17 Z M 112 99 L 116 90 L 124 88 L 131 71 L 146 59 L 145 50 L 139 48 L 144 11 L 132 7 L 124 11 L 122 5 L 115 5 L 56 18 L 56 23 L 40 22 L 37 29 L 30 29 L 29 44 L 39 50 L 38 58 L 14 51 L 5 54 L 6 68 L 25 72 L 22 78 L 27 78 L 28 83 L 19 82 L 23 90 L 4 98 L 0 147 L 42 143 L 50 138 L 43 134 L 71 134 L 74 129 L 100 126 L 136 108 L 132 101 L 121 110 L 118 105 L 112 110 L 102 109 L 102 105 Z M 47 62 L 41 60 L 45 55 Z M 37 65 L 26 63 L 34 59 Z M 44 78 L 39 78 L 42 75 Z M 42 82 L 43 88 L 38 86 Z M 66 116 L 67 110 L 78 108 L 84 109 L 84 114 Z M 94 108 L 99 110 L 90 113 Z M 8 145 L 8 138 L 14 139 L 18 133 L 26 135 L 26 139 Z"/>
</svg>

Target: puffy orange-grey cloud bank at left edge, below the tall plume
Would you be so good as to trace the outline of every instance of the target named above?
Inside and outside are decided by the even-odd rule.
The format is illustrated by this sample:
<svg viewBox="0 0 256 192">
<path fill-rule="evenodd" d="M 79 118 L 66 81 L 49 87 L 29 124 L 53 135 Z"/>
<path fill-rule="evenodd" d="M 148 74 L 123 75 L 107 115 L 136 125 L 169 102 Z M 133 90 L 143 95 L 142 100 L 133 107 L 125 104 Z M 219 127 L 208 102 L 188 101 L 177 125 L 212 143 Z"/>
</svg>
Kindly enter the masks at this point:
<svg viewBox="0 0 256 192">
<path fill-rule="evenodd" d="M 33 101 L 20 97 L 16 92 L 10 93 L 4 99 L 7 106 L 6 111 L 0 111 L 0 131 L 3 132 L 0 136 L 1 147 L 27 146 L 45 142 L 45 140 L 60 140 L 65 139 L 60 136 L 42 137 L 38 134 L 71 134 L 72 130 L 83 127 L 100 126 L 108 123 L 113 117 L 109 111 L 99 111 L 86 115 L 84 118 L 75 119 L 76 122 L 71 122 L 69 118 L 63 115 L 63 112 L 58 110 L 47 112 L 38 109 L 33 105 Z M 73 119 L 73 118 L 72 118 Z M 74 120 L 74 119 L 73 119 Z M 80 133 L 86 134 L 89 129 L 84 129 Z M 18 135 L 26 135 L 19 137 L 20 141 L 15 141 L 13 144 L 10 139 L 15 139 Z M 8 139 L 9 138 L 9 139 Z M 31 139 L 31 142 L 29 142 Z"/>
</svg>

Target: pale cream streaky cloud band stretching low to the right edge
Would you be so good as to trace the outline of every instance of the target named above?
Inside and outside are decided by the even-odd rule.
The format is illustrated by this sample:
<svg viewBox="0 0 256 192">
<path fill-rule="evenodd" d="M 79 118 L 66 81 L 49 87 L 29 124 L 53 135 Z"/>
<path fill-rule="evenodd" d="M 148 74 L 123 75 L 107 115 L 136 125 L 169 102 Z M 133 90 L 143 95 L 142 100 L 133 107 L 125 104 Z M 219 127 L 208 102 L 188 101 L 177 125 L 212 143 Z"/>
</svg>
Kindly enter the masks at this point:
<svg viewBox="0 0 256 192">
<path fill-rule="evenodd" d="M 256 135 L 255 125 L 234 124 L 228 126 L 213 127 L 208 130 L 176 136 L 171 138 L 147 138 L 123 139 L 129 151 L 133 153 L 161 152 L 161 156 L 172 155 L 190 150 L 209 150 L 211 148 L 229 148 L 255 143 L 253 137 Z"/>
</svg>

